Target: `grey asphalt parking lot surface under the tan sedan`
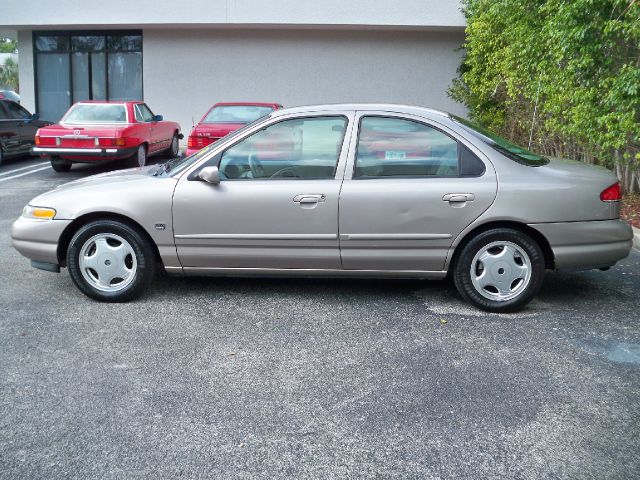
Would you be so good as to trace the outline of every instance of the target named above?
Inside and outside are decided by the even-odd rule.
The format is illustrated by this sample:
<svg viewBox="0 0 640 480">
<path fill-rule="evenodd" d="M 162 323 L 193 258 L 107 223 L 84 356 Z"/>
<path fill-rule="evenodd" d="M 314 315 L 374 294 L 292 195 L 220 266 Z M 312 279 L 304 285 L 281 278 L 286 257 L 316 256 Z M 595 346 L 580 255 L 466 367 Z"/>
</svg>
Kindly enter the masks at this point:
<svg viewBox="0 0 640 480">
<path fill-rule="evenodd" d="M 640 478 L 640 252 L 509 315 L 446 281 L 164 277 L 101 304 L 9 231 L 107 168 L 0 166 L 0 477 Z"/>
</svg>

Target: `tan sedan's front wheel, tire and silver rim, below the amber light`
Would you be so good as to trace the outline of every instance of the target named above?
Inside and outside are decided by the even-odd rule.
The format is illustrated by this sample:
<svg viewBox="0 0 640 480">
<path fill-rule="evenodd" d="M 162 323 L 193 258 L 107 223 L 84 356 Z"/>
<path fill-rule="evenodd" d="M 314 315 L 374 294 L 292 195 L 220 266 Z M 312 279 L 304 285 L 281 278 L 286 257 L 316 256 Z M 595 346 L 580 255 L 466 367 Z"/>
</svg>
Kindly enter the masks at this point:
<svg viewBox="0 0 640 480">
<path fill-rule="evenodd" d="M 155 255 L 136 229 L 116 220 L 88 223 L 71 239 L 67 266 L 82 293 L 103 302 L 139 297 L 153 280 Z"/>
</svg>

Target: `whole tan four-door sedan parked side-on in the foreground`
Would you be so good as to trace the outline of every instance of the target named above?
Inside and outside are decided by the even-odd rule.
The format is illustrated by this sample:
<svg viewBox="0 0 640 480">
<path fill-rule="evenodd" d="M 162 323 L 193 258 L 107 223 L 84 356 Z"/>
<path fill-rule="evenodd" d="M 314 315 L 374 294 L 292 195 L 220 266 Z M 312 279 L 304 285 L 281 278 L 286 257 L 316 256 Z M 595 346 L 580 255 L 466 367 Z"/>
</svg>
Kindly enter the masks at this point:
<svg viewBox="0 0 640 480">
<path fill-rule="evenodd" d="M 512 311 L 545 269 L 606 269 L 632 231 L 602 168 L 547 159 L 444 112 L 397 105 L 278 110 L 196 154 L 36 197 L 13 225 L 35 267 L 130 300 L 170 274 L 451 274 Z"/>
</svg>

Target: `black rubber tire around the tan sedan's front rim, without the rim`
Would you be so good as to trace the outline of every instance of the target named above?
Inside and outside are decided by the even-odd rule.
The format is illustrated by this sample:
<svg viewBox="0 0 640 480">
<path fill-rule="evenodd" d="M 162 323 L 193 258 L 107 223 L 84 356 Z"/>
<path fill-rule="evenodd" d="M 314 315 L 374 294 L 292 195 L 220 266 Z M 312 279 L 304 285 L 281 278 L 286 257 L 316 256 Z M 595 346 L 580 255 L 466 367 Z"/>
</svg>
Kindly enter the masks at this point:
<svg viewBox="0 0 640 480">
<path fill-rule="evenodd" d="M 99 234 L 115 234 L 126 240 L 133 249 L 137 262 L 135 274 L 121 290 L 102 291 L 88 281 L 81 271 L 83 246 Z M 88 297 L 102 302 L 127 302 L 138 298 L 153 281 L 156 264 L 155 251 L 146 237 L 137 229 L 117 220 L 97 220 L 86 224 L 75 233 L 67 249 L 67 267 L 73 283 Z"/>
</svg>

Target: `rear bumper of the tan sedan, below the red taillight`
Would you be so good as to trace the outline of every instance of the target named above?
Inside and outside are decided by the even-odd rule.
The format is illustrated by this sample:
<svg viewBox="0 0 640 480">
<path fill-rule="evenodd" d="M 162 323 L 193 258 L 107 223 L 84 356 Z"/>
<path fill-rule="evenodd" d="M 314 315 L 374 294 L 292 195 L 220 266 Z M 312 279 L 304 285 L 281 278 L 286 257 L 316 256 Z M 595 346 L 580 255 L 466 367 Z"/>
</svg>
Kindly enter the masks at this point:
<svg viewBox="0 0 640 480">
<path fill-rule="evenodd" d="M 590 270 L 615 265 L 633 246 L 633 230 L 623 220 L 529 224 L 548 240 L 558 270 Z"/>
</svg>

